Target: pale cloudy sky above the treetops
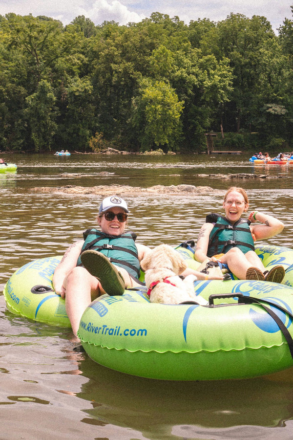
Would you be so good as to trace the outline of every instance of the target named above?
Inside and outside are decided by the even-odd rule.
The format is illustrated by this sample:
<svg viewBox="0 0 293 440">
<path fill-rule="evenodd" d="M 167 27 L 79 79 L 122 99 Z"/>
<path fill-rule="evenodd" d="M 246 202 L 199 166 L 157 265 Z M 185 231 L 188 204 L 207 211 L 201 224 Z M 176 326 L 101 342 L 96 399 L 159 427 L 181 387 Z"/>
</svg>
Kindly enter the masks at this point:
<svg viewBox="0 0 293 440">
<path fill-rule="evenodd" d="M 96 25 L 104 21 L 127 24 L 140 22 L 152 12 L 178 16 L 189 24 L 191 20 L 207 18 L 218 22 L 230 13 L 266 17 L 276 29 L 285 18 L 293 19 L 293 0 L 0 0 L 0 15 L 45 15 L 60 20 L 64 25 L 84 15 Z"/>
</svg>

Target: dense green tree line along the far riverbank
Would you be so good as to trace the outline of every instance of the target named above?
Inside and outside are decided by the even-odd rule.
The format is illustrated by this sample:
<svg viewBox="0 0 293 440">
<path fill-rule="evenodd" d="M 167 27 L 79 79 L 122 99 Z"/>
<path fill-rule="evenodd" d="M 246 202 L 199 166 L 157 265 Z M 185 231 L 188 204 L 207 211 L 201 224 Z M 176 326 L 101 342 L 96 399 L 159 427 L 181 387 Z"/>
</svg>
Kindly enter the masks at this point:
<svg viewBox="0 0 293 440">
<path fill-rule="evenodd" d="M 293 6 L 292 13 L 293 13 Z M 0 150 L 196 152 L 293 140 L 293 20 L 0 16 Z M 226 135 L 226 133 L 230 135 Z"/>
</svg>

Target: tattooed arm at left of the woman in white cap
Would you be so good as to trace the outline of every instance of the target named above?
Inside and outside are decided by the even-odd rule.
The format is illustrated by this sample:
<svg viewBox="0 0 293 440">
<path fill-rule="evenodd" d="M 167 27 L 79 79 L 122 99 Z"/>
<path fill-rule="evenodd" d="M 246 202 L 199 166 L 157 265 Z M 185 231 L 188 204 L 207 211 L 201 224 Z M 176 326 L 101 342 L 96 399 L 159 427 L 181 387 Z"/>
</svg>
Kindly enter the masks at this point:
<svg viewBox="0 0 293 440">
<path fill-rule="evenodd" d="M 78 257 L 81 253 L 84 241 L 79 240 L 78 242 L 74 242 L 68 249 L 65 251 L 61 262 L 56 267 L 53 274 L 53 287 L 55 292 L 58 295 L 61 295 L 63 298 L 65 296 L 63 282 L 68 274 L 68 272 L 76 266 Z"/>
</svg>

